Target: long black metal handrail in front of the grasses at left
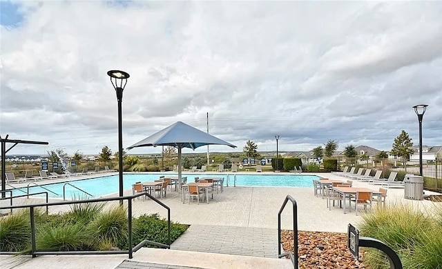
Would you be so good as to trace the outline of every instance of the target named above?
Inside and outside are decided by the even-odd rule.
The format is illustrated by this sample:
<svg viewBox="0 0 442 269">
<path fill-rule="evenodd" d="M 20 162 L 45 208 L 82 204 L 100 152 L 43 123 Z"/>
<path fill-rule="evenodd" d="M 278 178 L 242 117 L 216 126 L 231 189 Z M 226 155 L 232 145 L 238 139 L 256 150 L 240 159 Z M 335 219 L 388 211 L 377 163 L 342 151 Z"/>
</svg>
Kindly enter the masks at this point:
<svg viewBox="0 0 442 269">
<path fill-rule="evenodd" d="M 163 208 L 166 208 L 167 210 L 167 245 L 164 243 L 158 243 L 154 241 L 149 240 L 143 240 L 142 242 L 138 243 L 137 246 L 132 247 L 132 200 L 134 198 L 140 197 L 145 195 L 146 197 L 152 199 L 156 203 L 160 204 Z M 71 204 L 77 204 L 77 203 L 97 203 L 97 202 L 104 202 L 104 201 L 124 201 L 127 200 L 128 202 L 128 250 L 107 250 L 107 251 L 37 251 L 36 241 L 35 241 L 35 212 L 34 208 L 40 207 L 40 206 L 63 206 L 63 205 L 71 205 Z M 30 231 L 31 231 L 31 251 L 30 255 L 32 257 L 37 257 L 37 255 L 97 255 L 97 254 L 128 254 L 129 259 L 133 258 L 133 252 L 139 250 L 144 246 L 146 243 L 160 246 L 162 248 L 171 248 L 171 208 L 169 206 L 166 206 L 164 203 L 162 203 L 160 200 L 156 199 L 152 195 L 148 194 L 147 192 L 141 192 L 136 195 L 131 196 L 125 196 L 125 197 L 110 197 L 110 198 L 97 198 L 97 199 L 88 199 L 88 200 L 74 200 L 74 201 L 60 201 L 55 203 L 38 203 L 38 204 L 32 204 L 32 205 L 20 205 L 20 206 L 7 206 L 7 207 L 0 207 L 0 210 L 2 209 L 18 209 L 18 208 L 29 208 L 30 212 Z M 0 255 L 11 255 L 11 254 L 23 254 L 21 252 L 0 252 Z"/>
</svg>

